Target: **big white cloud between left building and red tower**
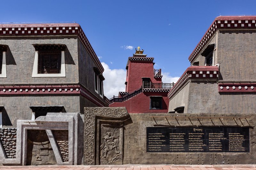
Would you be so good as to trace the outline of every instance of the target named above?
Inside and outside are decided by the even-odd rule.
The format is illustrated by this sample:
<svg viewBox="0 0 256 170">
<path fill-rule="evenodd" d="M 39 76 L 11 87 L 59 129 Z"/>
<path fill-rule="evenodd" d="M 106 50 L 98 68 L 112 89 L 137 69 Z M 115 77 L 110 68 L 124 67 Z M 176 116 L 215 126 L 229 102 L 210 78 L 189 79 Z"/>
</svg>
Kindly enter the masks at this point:
<svg viewBox="0 0 256 170">
<path fill-rule="evenodd" d="M 104 95 L 110 99 L 113 95 L 118 96 L 118 92 L 125 91 L 124 82 L 126 80 L 126 70 L 110 69 L 108 64 L 101 62 L 104 72 Z"/>
</svg>

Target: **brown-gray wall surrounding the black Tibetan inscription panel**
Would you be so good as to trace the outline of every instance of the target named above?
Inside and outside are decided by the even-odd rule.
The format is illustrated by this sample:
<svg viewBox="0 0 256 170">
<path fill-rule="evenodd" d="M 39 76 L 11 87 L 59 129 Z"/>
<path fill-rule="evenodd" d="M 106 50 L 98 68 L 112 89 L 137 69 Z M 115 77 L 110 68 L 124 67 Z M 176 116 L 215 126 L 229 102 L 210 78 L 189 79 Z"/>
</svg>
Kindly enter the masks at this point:
<svg viewBox="0 0 256 170">
<path fill-rule="evenodd" d="M 209 114 L 130 114 L 132 123 L 125 125 L 124 129 L 124 161 L 123 164 L 255 164 L 255 114 L 212 114 L 212 121 Z M 155 117 L 153 119 L 149 116 Z M 169 116 L 165 118 L 165 116 Z M 190 117 L 191 122 L 187 117 Z M 199 116 L 200 122 L 196 116 Z M 231 118 L 225 118 L 225 117 Z M 248 117 L 246 119 L 238 117 Z M 200 118 L 202 117 L 202 118 Z M 219 118 L 223 117 L 220 121 Z M 235 121 L 232 117 L 236 117 Z M 176 119 L 175 119 L 176 118 Z M 167 120 L 168 121 L 167 121 Z M 192 124 L 193 123 L 193 124 Z M 250 152 L 147 152 L 147 127 L 251 127 L 250 129 Z M 209 127 L 210 126 L 210 127 Z"/>
</svg>

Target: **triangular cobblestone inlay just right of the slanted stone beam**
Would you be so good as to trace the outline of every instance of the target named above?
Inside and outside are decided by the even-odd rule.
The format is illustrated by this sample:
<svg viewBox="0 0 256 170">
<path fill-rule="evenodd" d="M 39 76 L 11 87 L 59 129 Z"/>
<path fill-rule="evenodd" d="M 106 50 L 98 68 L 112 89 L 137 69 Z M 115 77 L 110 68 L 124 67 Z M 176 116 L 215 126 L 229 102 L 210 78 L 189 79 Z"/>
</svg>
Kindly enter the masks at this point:
<svg viewBox="0 0 256 170">
<path fill-rule="evenodd" d="M 64 162 L 68 162 L 68 130 L 52 130 Z"/>
</svg>

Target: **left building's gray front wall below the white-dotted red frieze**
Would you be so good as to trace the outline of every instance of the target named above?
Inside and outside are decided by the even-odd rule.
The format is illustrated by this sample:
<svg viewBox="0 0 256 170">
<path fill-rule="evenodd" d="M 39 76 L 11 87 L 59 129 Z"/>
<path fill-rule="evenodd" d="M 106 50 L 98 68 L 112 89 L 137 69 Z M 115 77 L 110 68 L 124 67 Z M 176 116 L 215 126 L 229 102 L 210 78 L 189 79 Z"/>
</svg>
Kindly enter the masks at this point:
<svg viewBox="0 0 256 170">
<path fill-rule="evenodd" d="M 29 106 L 62 105 L 66 112 L 80 113 L 79 94 L 77 95 L 1 95 L 0 105 L 4 106 L 3 127 L 16 127 L 20 120 L 31 120 L 32 110 Z"/>
</svg>

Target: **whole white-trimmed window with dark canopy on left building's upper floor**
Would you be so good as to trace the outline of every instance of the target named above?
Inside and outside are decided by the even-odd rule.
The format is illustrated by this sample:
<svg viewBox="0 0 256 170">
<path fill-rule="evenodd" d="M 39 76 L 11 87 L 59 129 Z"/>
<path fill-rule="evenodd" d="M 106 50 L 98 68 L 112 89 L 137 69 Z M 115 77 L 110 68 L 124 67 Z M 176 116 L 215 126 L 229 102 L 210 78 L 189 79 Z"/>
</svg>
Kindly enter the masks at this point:
<svg viewBox="0 0 256 170">
<path fill-rule="evenodd" d="M 66 77 L 63 44 L 34 44 L 36 49 L 32 77 Z"/>
</svg>

